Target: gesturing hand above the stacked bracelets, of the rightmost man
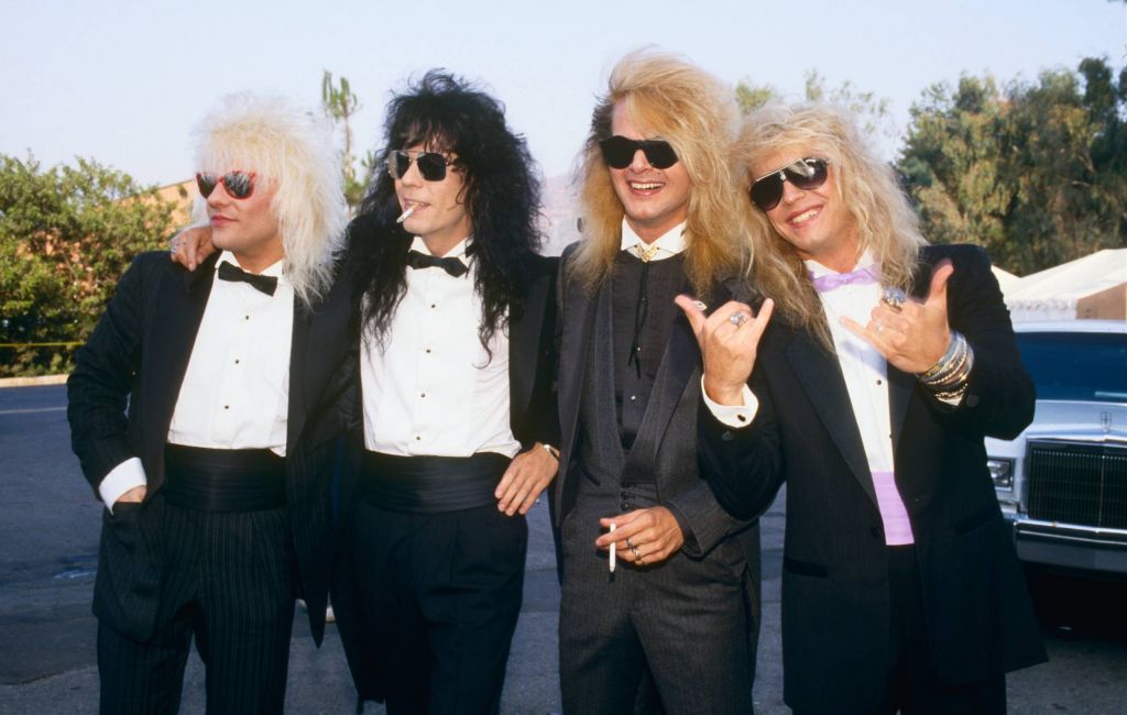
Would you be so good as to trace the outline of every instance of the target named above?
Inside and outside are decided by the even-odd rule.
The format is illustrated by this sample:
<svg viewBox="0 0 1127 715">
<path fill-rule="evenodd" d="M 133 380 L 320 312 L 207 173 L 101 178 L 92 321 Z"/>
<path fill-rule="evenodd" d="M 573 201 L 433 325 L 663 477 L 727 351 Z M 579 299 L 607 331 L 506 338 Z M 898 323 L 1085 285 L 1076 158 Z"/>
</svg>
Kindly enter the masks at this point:
<svg viewBox="0 0 1127 715">
<path fill-rule="evenodd" d="M 842 325 L 905 373 L 923 373 L 938 363 L 951 342 L 947 323 L 947 281 L 955 272 L 951 261 L 940 262 L 931 277 L 928 300 L 914 301 L 898 288 L 885 288 L 880 304 L 866 325 L 842 318 Z"/>
</svg>

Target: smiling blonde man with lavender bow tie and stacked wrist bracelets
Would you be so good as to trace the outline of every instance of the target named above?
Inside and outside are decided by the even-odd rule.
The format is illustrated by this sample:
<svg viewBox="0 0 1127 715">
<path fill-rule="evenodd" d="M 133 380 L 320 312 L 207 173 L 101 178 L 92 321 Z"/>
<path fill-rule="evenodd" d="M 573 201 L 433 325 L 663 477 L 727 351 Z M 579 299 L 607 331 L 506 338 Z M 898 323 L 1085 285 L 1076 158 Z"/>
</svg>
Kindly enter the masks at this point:
<svg viewBox="0 0 1127 715">
<path fill-rule="evenodd" d="M 713 488 L 734 515 L 787 482 L 784 700 L 796 713 L 1004 713 L 1004 673 L 1045 660 L 984 435 L 1031 420 L 1033 386 L 990 260 L 926 245 L 852 117 L 771 105 L 742 153 L 756 286 L 757 411 Z M 709 354 L 711 345 L 702 348 Z M 726 479 L 738 474 L 737 479 Z"/>
</svg>

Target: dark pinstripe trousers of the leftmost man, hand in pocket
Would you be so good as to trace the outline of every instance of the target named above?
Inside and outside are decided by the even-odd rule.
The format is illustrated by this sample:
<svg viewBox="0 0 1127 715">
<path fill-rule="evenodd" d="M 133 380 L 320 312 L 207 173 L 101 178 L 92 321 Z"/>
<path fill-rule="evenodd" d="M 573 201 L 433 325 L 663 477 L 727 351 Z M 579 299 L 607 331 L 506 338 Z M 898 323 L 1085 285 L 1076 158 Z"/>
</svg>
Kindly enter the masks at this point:
<svg viewBox="0 0 1127 715">
<path fill-rule="evenodd" d="M 286 510 L 196 511 L 160 494 L 140 509 L 127 518 L 157 525 L 157 632 L 139 643 L 99 622 L 101 713 L 176 713 L 193 636 L 207 713 L 281 713 L 298 583 Z"/>
</svg>

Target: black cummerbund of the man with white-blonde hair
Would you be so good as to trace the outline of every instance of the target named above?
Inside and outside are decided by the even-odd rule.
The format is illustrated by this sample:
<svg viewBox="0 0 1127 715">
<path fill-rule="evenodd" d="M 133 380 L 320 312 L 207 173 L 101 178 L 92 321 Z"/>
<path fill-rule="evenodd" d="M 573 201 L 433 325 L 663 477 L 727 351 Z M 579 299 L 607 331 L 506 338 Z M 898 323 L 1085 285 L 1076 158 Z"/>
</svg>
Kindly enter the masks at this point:
<svg viewBox="0 0 1127 715">
<path fill-rule="evenodd" d="M 285 458 L 269 449 L 165 447 L 165 500 L 197 511 L 281 509 Z"/>
</svg>

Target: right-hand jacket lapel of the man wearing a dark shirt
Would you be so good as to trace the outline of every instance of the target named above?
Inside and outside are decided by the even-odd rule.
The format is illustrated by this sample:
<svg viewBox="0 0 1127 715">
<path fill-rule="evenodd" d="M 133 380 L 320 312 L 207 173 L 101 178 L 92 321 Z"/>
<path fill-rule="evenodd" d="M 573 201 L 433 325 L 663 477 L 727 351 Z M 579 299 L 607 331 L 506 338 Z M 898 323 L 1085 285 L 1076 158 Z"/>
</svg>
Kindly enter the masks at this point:
<svg viewBox="0 0 1127 715">
<path fill-rule="evenodd" d="M 653 474 L 657 465 L 657 450 L 662 445 L 673 413 L 685 393 L 691 375 L 698 374 L 701 365 L 700 347 L 693 329 L 678 309 L 673 321 L 673 332 L 662 356 L 662 366 L 654 378 L 641 428 L 630 449 L 630 458 L 623 470 L 623 481 L 639 481 L 644 474 Z"/>
</svg>

